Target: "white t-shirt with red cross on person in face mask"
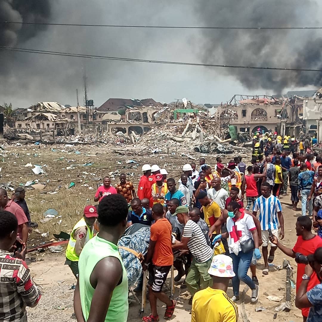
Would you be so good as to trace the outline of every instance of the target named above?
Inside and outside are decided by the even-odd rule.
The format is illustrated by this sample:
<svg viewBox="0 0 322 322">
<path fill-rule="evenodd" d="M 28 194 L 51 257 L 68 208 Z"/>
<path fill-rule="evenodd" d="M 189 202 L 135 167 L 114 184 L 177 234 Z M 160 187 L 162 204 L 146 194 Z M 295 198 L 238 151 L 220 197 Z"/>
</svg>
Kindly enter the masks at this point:
<svg viewBox="0 0 322 322">
<path fill-rule="evenodd" d="M 253 217 L 248 213 L 243 213 L 242 216 L 235 222 L 234 218 L 227 218 L 228 245 L 235 242 L 245 242 L 253 238 L 252 230 L 256 229 Z M 239 251 L 242 248 L 239 245 Z M 229 252 L 232 253 L 229 248 Z"/>
</svg>

